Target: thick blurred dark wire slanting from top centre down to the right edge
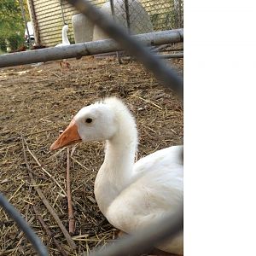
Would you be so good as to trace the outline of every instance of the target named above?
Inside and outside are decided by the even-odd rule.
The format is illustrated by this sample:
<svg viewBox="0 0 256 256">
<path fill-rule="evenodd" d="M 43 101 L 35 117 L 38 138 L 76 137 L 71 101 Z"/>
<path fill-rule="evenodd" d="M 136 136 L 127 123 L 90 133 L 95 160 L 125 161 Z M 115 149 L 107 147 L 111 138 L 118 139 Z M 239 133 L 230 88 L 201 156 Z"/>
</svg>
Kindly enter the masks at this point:
<svg viewBox="0 0 256 256">
<path fill-rule="evenodd" d="M 140 42 L 130 37 L 121 26 L 116 25 L 113 20 L 96 9 L 88 0 L 67 0 L 67 2 L 78 9 L 80 13 L 86 15 L 91 22 L 102 28 L 103 32 L 116 40 L 130 55 L 136 56 L 137 60 L 143 63 L 144 67 L 152 72 L 163 85 L 176 91 L 183 98 L 183 79 L 172 68 L 167 67 L 165 62 L 152 55 Z M 183 38 L 183 31 L 180 34 L 180 41 L 182 41 L 181 38 Z"/>
</svg>

